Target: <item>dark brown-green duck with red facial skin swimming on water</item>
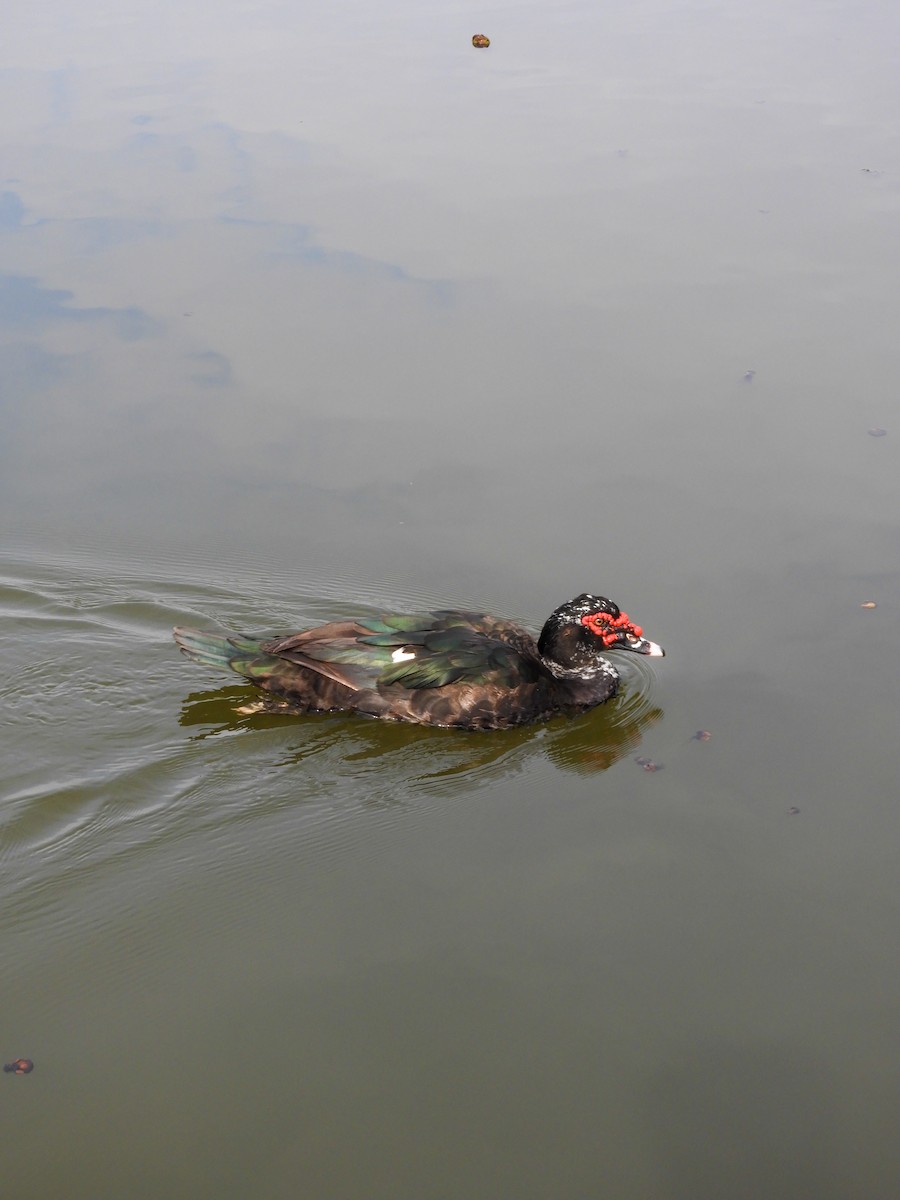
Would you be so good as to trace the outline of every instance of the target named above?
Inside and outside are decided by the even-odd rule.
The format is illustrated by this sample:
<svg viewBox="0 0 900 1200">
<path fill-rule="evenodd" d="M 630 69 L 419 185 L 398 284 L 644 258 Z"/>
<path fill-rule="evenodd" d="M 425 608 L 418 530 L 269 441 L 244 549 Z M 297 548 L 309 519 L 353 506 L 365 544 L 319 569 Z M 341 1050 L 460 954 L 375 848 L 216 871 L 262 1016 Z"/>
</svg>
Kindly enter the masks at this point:
<svg viewBox="0 0 900 1200">
<path fill-rule="evenodd" d="M 184 654 L 247 679 L 287 713 L 359 713 L 388 721 L 502 730 L 582 713 L 616 695 L 606 654 L 662 656 L 628 613 L 583 592 L 556 608 L 535 640 L 488 613 L 355 617 L 257 641 L 176 626 Z"/>
</svg>

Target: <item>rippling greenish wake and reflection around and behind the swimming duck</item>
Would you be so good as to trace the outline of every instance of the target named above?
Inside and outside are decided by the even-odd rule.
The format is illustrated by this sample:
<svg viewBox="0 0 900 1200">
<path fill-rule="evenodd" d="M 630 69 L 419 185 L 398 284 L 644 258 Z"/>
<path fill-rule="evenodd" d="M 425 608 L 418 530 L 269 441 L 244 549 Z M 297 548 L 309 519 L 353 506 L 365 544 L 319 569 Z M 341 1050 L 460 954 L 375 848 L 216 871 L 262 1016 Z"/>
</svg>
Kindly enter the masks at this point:
<svg viewBox="0 0 900 1200">
<path fill-rule="evenodd" d="M 216 871 L 215 847 L 250 839 L 259 848 L 286 833 L 328 856 L 362 812 L 396 820 L 428 798 L 445 803 L 527 772 L 604 770 L 659 716 L 652 671 L 624 655 L 616 701 L 544 726 L 469 734 L 347 716 L 248 716 L 235 709 L 252 690 L 224 677 L 186 698 L 196 676 L 174 649 L 173 624 L 301 628 L 362 602 L 412 608 L 436 598 L 379 596 L 349 578 L 301 592 L 264 572 L 238 582 L 167 576 L 156 563 L 142 574 L 74 557 L 0 566 L 7 904 L 36 914 L 115 864 L 132 864 L 138 888 L 151 864 L 184 869 L 198 853 Z M 341 590 L 343 600 L 329 595 Z M 62 929 L 65 912 L 58 916 Z"/>
</svg>

